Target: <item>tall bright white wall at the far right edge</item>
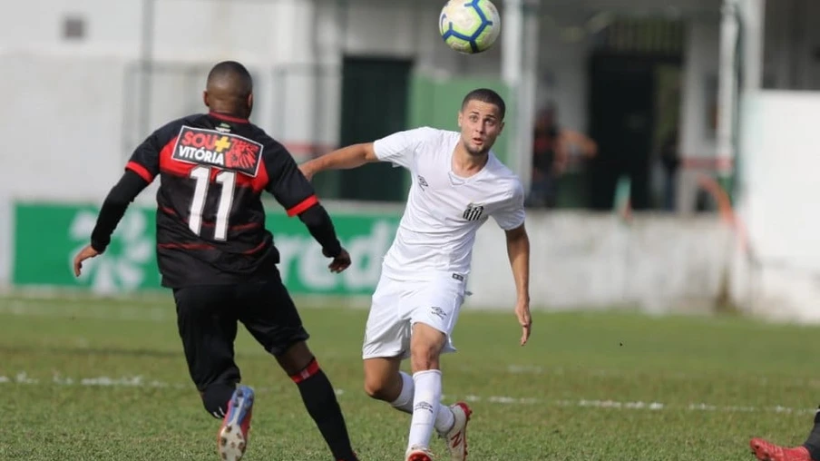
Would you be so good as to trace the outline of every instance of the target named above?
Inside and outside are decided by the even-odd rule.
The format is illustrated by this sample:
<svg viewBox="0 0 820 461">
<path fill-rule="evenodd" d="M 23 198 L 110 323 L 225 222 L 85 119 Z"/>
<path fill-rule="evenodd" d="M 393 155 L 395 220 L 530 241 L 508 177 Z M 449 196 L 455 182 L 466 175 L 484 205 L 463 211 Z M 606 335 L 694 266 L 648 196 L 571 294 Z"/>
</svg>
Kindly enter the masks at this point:
<svg viewBox="0 0 820 461">
<path fill-rule="evenodd" d="M 820 93 L 750 93 L 741 113 L 733 296 L 755 314 L 820 321 Z"/>
</svg>

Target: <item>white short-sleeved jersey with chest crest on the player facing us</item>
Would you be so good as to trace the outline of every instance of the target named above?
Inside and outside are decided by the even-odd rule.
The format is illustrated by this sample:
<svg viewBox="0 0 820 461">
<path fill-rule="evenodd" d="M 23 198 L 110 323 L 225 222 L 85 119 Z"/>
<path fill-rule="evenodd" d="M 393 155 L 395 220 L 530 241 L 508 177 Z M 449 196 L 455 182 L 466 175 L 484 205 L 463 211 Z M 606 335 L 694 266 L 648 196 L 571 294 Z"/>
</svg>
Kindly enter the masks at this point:
<svg viewBox="0 0 820 461">
<path fill-rule="evenodd" d="M 434 272 L 466 276 L 475 232 L 492 216 L 505 231 L 524 222 L 521 181 L 493 152 L 469 178 L 452 170 L 459 132 L 417 128 L 374 142 L 376 157 L 408 169 L 413 183 L 383 273 L 395 280 L 425 280 Z"/>
</svg>

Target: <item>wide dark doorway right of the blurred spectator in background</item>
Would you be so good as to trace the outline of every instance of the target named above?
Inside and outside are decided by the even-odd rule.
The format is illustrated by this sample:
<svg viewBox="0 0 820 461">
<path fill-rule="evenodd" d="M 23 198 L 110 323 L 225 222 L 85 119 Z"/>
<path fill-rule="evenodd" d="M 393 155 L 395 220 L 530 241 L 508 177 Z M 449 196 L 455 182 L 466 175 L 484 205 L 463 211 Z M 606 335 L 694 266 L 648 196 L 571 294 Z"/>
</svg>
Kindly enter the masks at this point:
<svg viewBox="0 0 820 461">
<path fill-rule="evenodd" d="M 592 209 L 612 209 L 620 179 L 630 181 L 633 210 L 662 206 L 650 185 L 658 183 L 652 176 L 658 176 L 662 146 L 678 142 L 684 31 L 675 19 L 623 18 L 596 35 L 589 130 L 599 152 L 590 168 Z"/>
</svg>

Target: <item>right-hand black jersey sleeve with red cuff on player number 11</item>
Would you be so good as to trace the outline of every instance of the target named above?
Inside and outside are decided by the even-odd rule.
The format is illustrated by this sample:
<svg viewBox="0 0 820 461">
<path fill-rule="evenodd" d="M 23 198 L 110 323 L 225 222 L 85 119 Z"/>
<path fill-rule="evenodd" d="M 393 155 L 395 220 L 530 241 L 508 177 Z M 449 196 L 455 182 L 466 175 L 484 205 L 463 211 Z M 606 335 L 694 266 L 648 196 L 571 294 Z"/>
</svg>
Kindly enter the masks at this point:
<svg viewBox="0 0 820 461">
<path fill-rule="evenodd" d="M 284 146 L 278 142 L 268 143 L 262 159 L 268 173 L 265 190 L 273 194 L 288 211 L 288 216 L 297 216 L 318 203 L 316 191 Z"/>
</svg>

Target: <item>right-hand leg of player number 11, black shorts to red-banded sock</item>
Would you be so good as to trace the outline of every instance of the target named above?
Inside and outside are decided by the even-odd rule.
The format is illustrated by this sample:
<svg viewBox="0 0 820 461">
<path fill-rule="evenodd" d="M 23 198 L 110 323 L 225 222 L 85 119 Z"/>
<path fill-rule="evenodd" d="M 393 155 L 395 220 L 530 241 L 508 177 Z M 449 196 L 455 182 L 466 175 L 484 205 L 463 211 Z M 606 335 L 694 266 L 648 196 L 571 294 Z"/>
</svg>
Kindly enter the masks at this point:
<svg viewBox="0 0 820 461">
<path fill-rule="evenodd" d="M 239 287 L 239 302 L 239 320 L 296 383 L 333 456 L 356 460 L 336 390 L 307 348 L 308 334 L 288 290 L 278 278 L 248 283 Z"/>
</svg>

